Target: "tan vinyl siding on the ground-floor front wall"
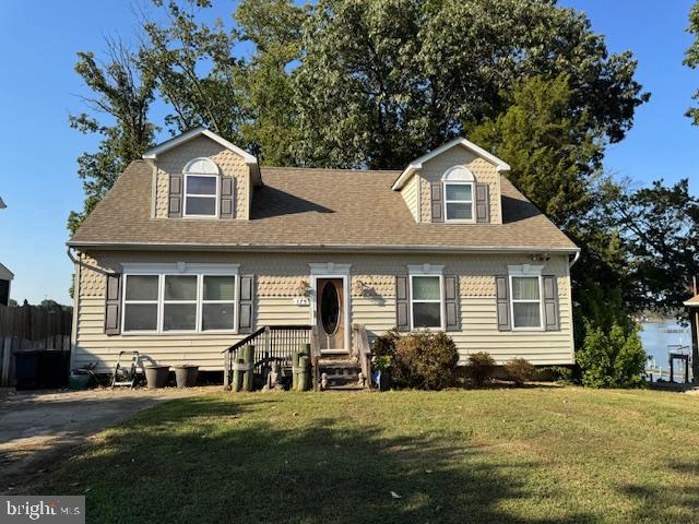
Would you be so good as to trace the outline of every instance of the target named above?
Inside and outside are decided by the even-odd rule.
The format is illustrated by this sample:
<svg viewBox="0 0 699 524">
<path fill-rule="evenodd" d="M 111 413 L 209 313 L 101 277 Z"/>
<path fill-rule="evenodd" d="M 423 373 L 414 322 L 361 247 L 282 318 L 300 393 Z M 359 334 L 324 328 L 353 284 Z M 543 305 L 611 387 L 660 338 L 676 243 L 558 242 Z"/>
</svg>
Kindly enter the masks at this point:
<svg viewBox="0 0 699 524">
<path fill-rule="evenodd" d="M 309 281 L 310 262 L 352 264 L 351 322 L 364 324 L 369 337 L 395 325 L 396 274 L 407 274 L 407 264 L 443 264 L 445 274 L 460 281 L 461 330 L 450 332 L 464 364 L 475 352 L 488 352 L 499 364 L 523 357 L 535 365 L 573 362 L 571 297 L 568 261 L 553 257 L 544 274 L 557 276 L 560 330 L 555 332 L 498 332 L 496 323 L 495 275 L 507 273 L 507 265 L 532 263 L 528 255 L 383 255 L 383 254 L 291 254 L 291 253 L 95 253 L 103 266 L 119 271 L 121 262 L 198 262 L 240 264 L 240 274 L 256 275 L 258 326 L 310 322 L 310 306 L 297 306 Z M 87 263 L 92 259 L 85 260 Z M 537 264 L 540 262 L 536 262 Z M 202 370 L 221 370 L 221 352 L 245 335 L 104 334 L 104 275 L 82 269 L 75 331 L 73 366 L 97 362 L 102 372 L 112 369 L 121 349 L 138 349 L 155 361 L 168 365 L 196 364 Z M 312 301 L 311 301 L 312 303 Z"/>
</svg>

